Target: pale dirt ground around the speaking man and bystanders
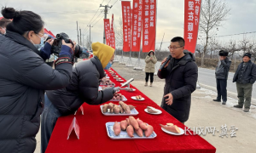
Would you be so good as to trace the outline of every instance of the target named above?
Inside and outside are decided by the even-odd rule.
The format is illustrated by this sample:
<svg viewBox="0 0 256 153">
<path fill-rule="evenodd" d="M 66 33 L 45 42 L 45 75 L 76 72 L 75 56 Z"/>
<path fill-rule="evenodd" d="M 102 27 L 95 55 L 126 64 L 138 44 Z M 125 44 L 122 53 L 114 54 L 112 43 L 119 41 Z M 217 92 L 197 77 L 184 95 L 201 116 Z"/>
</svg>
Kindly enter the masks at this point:
<svg viewBox="0 0 256 153">
<path fill-rule="evenodd" d="M 114 63 L 112 67 L 126 80 L 134 78 L 131 84 L 160 105 L 165 85 L 164 80 L 154 76 L 154 86 L 152 88 L 144 87 L 145 74 L 143 71 L 134 71 L 132 67 L 125 67 L 118 63 Z M 198 129 L 199 127 L 216 127 L 218 132 L 215 133 L 215 136 L 212 136 L 212 133 L 207 133 L 205 136 L 201 134 L 201 137 L 216 147 L 218 153 L 255 152 L 256 108 L 251 106 L 250 112 L 245 113 L 241 109 L 233 107 L 237 103 L 236 99 L 228 98 L 227 105 L 213 102 L 212 99 L 215 99 L 216 95 L 215 91 L 206 88 L 196 89 L 192 94 L 190 116 L 185 125 L 191 129 L 194 127 L 195 129 L 196 127 Z M 222 132 L 221 127 L 225 127 L 225 125 L 228 129 L 231 126 L 238 128 L 235 131 L 236 137 L 230 137 L 232 131 L 227 132 L 228 138 L 219 137 Z"/>
</svg>

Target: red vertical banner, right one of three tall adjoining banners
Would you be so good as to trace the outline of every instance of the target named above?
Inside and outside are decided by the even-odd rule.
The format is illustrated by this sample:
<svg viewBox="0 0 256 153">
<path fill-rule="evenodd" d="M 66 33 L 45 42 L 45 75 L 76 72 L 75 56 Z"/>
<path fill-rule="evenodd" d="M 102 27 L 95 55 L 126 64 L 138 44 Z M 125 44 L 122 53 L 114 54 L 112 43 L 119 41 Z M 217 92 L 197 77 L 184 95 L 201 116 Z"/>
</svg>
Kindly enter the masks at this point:
<svg viewBox="0 0 256 153">
<path fill-rule="evenodd" d="M 156 0 L 143 1 L 143 52 L 154 50 Z"/>
</svg>

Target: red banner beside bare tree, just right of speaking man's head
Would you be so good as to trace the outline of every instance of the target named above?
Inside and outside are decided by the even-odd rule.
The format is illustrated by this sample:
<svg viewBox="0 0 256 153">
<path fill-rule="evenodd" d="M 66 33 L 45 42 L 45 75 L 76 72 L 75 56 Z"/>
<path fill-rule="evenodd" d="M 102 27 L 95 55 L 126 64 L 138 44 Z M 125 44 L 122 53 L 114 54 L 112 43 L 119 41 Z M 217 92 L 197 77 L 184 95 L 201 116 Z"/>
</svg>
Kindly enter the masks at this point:
<svg viewBox="0 0 256 153">
<path fill-rule="evenodd" d="M 200 21 L 201 0 L 185 0 L 184 40 L 185 49 L 195 53 Z"/>
</svg>

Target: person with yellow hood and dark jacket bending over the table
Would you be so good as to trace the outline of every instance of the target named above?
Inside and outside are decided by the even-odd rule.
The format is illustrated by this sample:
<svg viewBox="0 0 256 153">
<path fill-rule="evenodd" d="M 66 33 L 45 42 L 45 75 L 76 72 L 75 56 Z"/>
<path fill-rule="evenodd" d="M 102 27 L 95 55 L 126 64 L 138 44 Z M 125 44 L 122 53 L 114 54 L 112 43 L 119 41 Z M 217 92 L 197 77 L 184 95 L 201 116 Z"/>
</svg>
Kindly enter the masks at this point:
<svg viewBox="0 0 256 153">
<path fill-rule="evenodd" d="M 94 57 L 73 66 L 73 76 L 67 88 L 47 91 L 41 124 L 41 152 L 47 148 L 50 135 L 59 116 L 74 114 L 84 102 L 100 105 L 113 99 L 114 88 L 98 91 L 104 68 L 112 63 L 114 49 L 100 42 L 92 43 Z M 109 68 L 109 67 L 108 67 Z M 50 121 L 50 122 L 49 122 Z"/>
</svg>

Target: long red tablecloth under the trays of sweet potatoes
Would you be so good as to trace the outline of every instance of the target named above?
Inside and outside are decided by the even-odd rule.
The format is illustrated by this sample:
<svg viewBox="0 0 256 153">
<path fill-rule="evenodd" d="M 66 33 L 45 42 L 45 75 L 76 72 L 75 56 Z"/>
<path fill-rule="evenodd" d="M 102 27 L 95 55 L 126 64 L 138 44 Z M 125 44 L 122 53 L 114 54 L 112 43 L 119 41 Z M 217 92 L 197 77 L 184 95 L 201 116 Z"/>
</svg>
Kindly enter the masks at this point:
<svg viewBox="0 0 256 153">
<path fill-rule="evenodd" d="M 120 86 L 120 82 L 116 82 L 113 77 L 106 71 L 111 81 L 116 86 Z M 119 75 L 118 75 L 119 76 Z M 120 77 L 120 76 L 119 76 Z M 121 77 L 122 78 L 122 77 Z M 123 78 L 124 79 L 124 78 Z M 125 79 L 124 79 L 125 80 Z M 131 86 L 131 88 L 135 88 Z M 80 139 L 77 139 L 72 133 L 67 140 L 67 131 L 71 122 L 72 116 L 61 116 L 56 122 L 54 131 L 49 140 L 47 153 L 65 153 L 65 152 L 195 152 L 195 153 L 214 153 L 216 148 L 209 144 L 199 135 L 181 135 L 175 136 L 164 133 L 160 128 L 161 124 L 172 122 L 178 127 L 184 129 L 184 125 L 178 122 L 173 116 L 156 105 L 154 101 L 149 99 L 142 92 L 137 90 L 133 93 L 121 90 L 128 99 L 125 103 L 137 106 L 139 112 L 136 118 L 139 117 L 143 122 L 154 127 L 154 132 L 157 134 L 155 139 L 131 139 L 131 140 L 113 140 L 108 137 L 106 122 L 122 121 L 127 116 L 103 116 L 99 105 L 87 105 L 84 103 L 84 116 L 81 112 L 77 112 L 76 118 L 80 127 Z M 144 101 L 136 101 L 131 99 L 131 96 L 142 95 Z M 118 102 L 116 102 L 118 104 Z M 150 115 L 144 111 L 146 106 L 151 105 L 162 111 L 160 115 Z"/>
</svg>

